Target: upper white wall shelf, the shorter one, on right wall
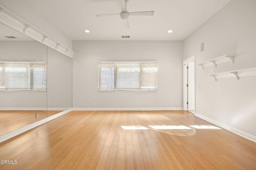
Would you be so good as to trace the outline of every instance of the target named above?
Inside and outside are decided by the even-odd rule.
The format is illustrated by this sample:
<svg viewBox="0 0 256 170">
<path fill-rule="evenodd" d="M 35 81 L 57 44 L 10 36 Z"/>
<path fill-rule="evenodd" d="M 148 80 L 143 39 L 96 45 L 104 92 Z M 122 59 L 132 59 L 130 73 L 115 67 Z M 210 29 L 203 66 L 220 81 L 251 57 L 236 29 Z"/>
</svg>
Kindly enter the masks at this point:
<svg viewBox="0 0 256 170">
<path fill-rule="evenodd" d="M 211 65 L 217 67 L 218 64 L 226 63 L 229 61 L 231 61 L 232 64 L 234 63 L 234 55 L 222 55 L 220 57 L 199 63 L 198 65 L 200 65 L 204 69 L 205 67 L 209 67 Z"/>
</svg>

